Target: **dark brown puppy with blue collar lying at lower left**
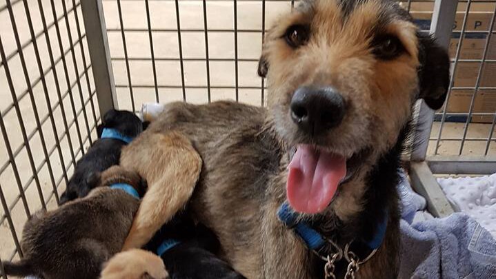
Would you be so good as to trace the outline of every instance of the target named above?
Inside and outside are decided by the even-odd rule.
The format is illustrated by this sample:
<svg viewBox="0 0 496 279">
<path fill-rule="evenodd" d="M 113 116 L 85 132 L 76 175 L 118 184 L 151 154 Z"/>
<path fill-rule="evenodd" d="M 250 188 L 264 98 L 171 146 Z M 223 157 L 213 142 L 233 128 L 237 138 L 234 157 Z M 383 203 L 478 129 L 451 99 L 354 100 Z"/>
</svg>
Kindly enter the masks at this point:
<svg viewBox="0 0 496 279">
<path fill-rule="evenodd" d="M 112 169 L 97 185 L 127 183 L 144 192 L 137 174 Z M 121 189 L 97 187 L 86 198 L 38 211 L 24 225 L 23 259 L 3 262 L 5 271 L 43 279 L 99 278 L 103 262 L 121 250 L 138 207 L 139 199 Z"/>
</svg>

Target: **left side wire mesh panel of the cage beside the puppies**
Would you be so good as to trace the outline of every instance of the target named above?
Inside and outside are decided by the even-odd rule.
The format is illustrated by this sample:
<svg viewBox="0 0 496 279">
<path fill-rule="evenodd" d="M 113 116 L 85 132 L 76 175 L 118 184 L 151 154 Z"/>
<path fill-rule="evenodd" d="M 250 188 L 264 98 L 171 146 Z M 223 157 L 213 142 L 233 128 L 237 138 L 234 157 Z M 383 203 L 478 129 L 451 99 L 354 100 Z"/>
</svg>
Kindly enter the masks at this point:
<svg viewBox="0 0 496 279">
<path fill-rule="evenodd" d="M 0 21 L 0 258 L 12 260 L 27 218 L 59 203 L 99 111 L 79 1 L 0 1 Z"/>
</svg>

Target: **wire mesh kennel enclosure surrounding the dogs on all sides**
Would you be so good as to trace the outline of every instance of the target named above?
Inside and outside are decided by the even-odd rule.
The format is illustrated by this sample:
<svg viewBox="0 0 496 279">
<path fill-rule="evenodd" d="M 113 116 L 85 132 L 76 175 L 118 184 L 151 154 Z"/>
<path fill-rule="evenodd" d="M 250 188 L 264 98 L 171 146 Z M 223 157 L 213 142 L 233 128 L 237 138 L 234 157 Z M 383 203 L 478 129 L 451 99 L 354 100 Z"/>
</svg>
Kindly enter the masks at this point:
<svg viewBox="0 0 496 279">
<path fill-rule="evenodd" d="M 57 207 L 103 112 L 168 101 L 264 105 L 256 75 L 264 32 L 297 2 L 0 0 L 0 259 L 21 257 L 23 223 Z M 496 171 L 496 2 L 401 5 L 452 56 L 448 105 L 433 112 L 419 103 L 410 158 L 415 189 L 446 216 L 453 208 L 436 175 Z M 469 70 L 467 82 L 460 75 Z M 481 96 L 494 107 L 480 110 Z"/>
</svg>

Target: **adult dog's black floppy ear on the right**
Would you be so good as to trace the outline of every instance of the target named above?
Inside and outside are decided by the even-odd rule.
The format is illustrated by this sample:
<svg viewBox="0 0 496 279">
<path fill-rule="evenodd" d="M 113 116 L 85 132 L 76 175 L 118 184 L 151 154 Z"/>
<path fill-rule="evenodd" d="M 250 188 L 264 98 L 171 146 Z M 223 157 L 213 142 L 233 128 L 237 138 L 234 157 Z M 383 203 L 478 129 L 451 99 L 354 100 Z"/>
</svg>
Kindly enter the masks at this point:
<svg viewBox="0 0 496 279">
<path fill-rule="evenodd" d="M 439 110 L 450 85 L 448 52 L 432 37 L 419 34 L 419 62 L 419 98 L 433 110 Z"/>
</svg>

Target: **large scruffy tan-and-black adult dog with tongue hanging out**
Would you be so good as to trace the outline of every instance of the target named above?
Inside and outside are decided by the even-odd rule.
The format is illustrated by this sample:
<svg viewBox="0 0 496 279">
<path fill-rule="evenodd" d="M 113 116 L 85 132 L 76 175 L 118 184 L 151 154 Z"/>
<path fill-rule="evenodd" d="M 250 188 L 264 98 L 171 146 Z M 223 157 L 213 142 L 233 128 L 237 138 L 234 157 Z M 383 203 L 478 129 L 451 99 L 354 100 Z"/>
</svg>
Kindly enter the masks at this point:
<svg viewBox="0 0 496 279">
<path fill-rule="evenodd" d="M 125 249 L 189 200 L 248 278 L 395 278 L 400 154 L 415 101 L 444 103 L 446 50 L 394 1 L 301 1 L 259 74 L 268 109 L 173 103 L 123 149 L 149 187 Z"/>
</svg>

